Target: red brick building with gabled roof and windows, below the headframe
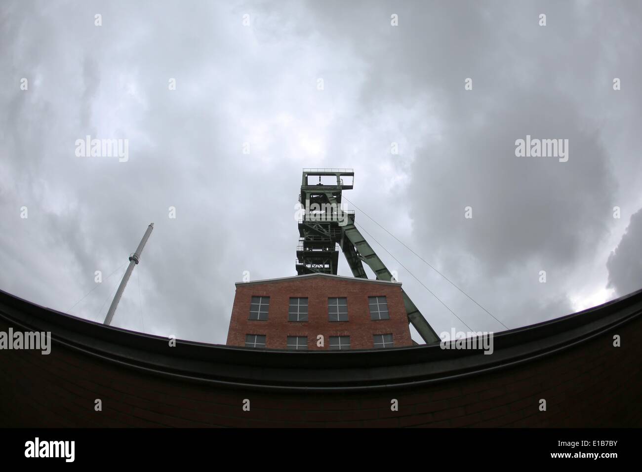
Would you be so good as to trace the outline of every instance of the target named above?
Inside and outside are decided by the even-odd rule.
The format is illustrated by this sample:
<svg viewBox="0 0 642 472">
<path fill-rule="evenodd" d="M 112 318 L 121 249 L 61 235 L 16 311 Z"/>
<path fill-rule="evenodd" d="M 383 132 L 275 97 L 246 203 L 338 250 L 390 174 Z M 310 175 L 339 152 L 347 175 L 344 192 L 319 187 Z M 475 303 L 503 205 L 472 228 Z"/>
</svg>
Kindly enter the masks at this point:
<svg viewBox="0 0 642 472">
<path fill-rule="evenodd" d="M 409 346 L 413 342 L 401 293 L 398 282 L 320 273 L 238 282 L 227 345 L 297 350 Z"/>
</svg>

